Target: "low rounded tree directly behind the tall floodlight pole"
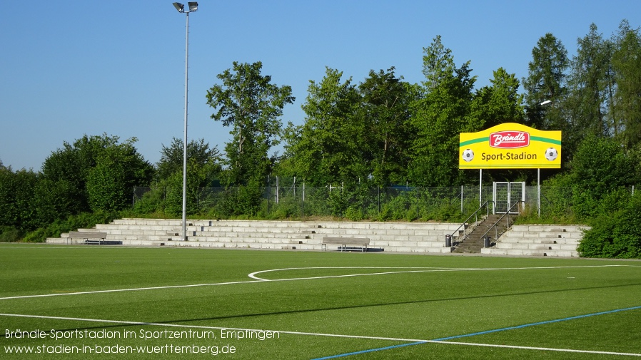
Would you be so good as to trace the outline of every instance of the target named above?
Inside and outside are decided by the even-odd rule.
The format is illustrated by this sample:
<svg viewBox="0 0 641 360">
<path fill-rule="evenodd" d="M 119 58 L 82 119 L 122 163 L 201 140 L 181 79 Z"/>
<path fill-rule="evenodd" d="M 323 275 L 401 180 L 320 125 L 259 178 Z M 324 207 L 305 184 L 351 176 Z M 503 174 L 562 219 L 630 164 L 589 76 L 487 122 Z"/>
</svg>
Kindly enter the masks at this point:
<svg viewBox="0 0 641 360">
<path fill-rule="evenodd" d="M 165 180 L 171 177 L 174 173 L 183 172 L 183 140 L 173 138 L 169 146 L 163 145 L 161 150 L 161 159 L 156 164 L 158 168 L 158 178 Z M 209 148 L 209 144 L 205 140 L 200 139 L 190 140 L 187 144 L 187 158 L 192 161 L 194 165 L 201 168 L 207 168 L 208 178 L 213 178 L 218 175 L 221 170 L 221 158 L 218 154 L 218 147 L 214 146 Z M 201 186 L 206 186 L 205 183 Z"/>
</svg>

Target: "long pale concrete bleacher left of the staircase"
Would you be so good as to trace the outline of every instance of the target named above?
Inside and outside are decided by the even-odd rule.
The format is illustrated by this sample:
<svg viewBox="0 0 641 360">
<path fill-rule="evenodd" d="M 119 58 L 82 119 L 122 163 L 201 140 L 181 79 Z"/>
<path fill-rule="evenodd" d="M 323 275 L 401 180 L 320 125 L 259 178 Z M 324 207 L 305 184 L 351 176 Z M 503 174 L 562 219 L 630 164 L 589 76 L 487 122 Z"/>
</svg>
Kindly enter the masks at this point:
<svg viewBox="0 0 641 360">
<path fill-rule="evenodd" d="M 374 251 L 449 253 L 453 248 L 445 247 L 445 235 L 459 226 L 431 222 L 188 220 L 187 241 L 181 241 L 182 220 L 120 219 L 79 231 L 105 232 L 106 241 L 122 245 L 321 250 L 323 237 L 366 237 L 370 240 L 368 248 Z M 69 234 L 63 234 L 47 242 L 74 243 L 69 240 Z"/>
</svg>

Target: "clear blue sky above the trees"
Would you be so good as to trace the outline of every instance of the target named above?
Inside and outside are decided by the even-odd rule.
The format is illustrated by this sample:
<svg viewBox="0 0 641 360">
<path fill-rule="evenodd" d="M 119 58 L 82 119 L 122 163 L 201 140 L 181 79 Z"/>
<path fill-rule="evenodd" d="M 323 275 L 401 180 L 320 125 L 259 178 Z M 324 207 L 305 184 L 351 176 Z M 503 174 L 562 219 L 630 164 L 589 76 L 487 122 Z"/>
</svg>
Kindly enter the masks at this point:
<svg viewBox="0 0 641 360">
<path fill-rule="evenodd" d="M 183 137 L 185 15 L 173 1 L 4 1 L 0 12 L 0 160 L 40 170 L 84 134 L 138 138 L 151 163 Z M 184 2 L 186 4 L 186 2 Z M 576 51 L 591 23 L 606 37 L 641 26 L 641 1 L 198 1 L 189 16 L 189 138 L 223 150 L 229 129 L 209 118 L 206 91 L 233 61 L 293 88 L 283 123 L 302 123 L 310 80 L 325 66 L 355 83 L 395 66 L 423 80 L 423 48 L 441 35 L 477 87 L 503 67 L 520 79 L 551 32 Z"/>
</svg>

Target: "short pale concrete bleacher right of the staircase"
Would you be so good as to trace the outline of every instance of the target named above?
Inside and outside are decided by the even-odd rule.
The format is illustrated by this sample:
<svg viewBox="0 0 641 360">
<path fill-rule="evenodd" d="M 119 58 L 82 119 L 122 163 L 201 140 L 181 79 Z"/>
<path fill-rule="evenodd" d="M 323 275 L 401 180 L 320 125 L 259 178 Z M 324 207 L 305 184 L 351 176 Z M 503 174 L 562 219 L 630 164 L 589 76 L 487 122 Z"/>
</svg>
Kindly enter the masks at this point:
<svg viewBox="0 0 641 360">
<path fill-rule="evenodd" d="M 578 257 L 585 225 L 514 225 L 482 254 Z"/>
</svg>

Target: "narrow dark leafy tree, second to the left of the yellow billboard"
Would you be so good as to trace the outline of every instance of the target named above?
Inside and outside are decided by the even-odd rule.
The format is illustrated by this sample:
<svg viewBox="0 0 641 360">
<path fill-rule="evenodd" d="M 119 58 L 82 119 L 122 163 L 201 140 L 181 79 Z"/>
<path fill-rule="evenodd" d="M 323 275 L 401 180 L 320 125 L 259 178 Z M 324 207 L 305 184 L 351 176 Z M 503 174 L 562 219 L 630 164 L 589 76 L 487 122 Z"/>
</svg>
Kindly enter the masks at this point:
<svg viewBox="0 0 641 360">
<path fill-rule="evenodd" d="M 363 97 L 365 128 L 365 159 L 378 185 L 403 182 L 407 179 L 407 152 L 411 134 L 406 130 L 410 119 L 412 92 L 403 76 L 397 78 L 394 68 L 369 77 L 358 89 Z"/>
</svg>

